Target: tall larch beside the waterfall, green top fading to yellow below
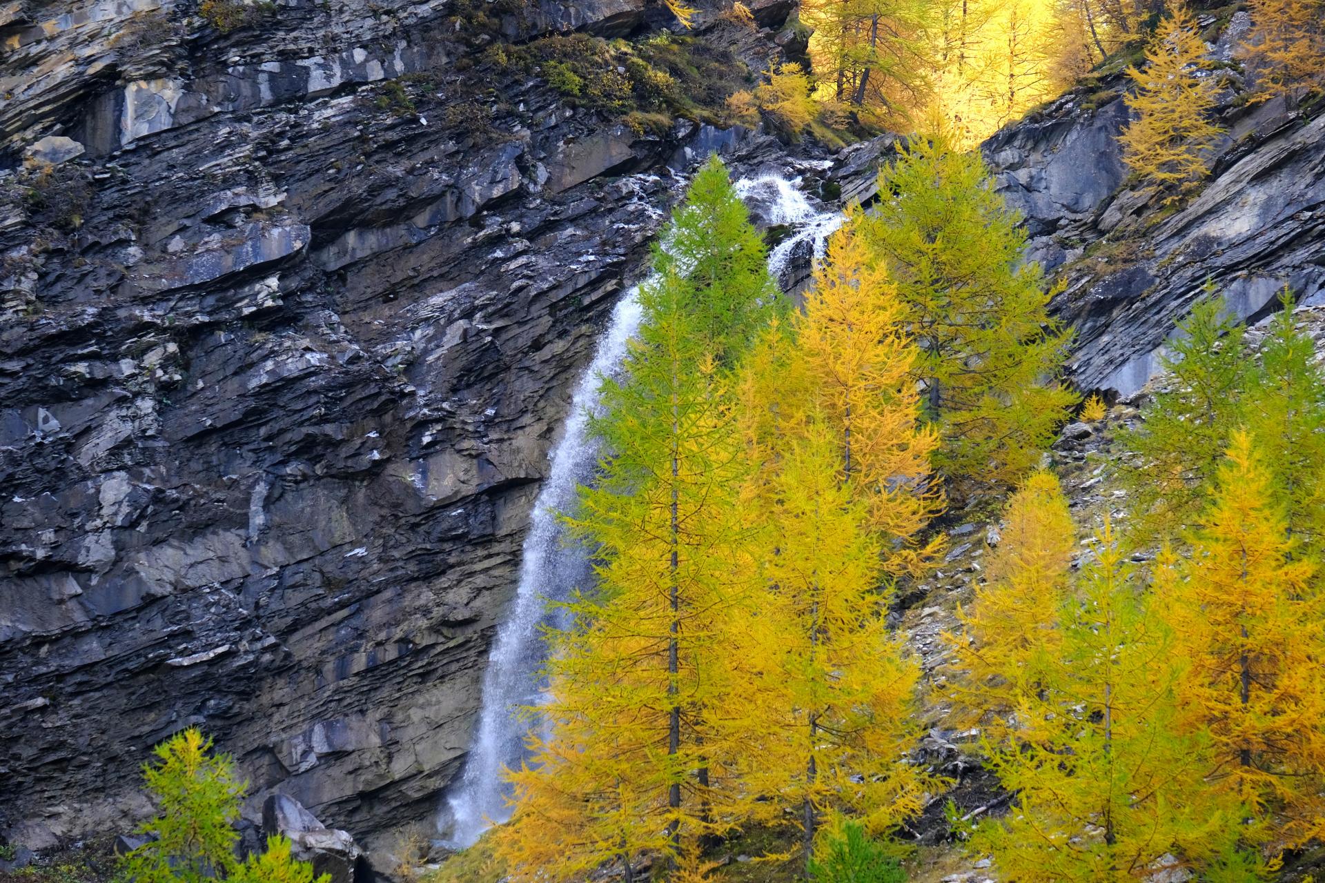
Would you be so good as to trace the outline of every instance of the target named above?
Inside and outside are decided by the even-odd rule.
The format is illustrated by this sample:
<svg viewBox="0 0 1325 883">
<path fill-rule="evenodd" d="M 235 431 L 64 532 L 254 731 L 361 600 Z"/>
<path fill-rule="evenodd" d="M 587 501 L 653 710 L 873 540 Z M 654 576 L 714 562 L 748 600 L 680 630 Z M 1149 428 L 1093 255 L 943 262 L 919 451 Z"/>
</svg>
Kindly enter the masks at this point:
<svg viewBox="0 0 1325 883">
<path fill-rule="evenodd" d="M 673 862 L 751 797 L 723 724 L 735 659 L 718 639 L 750 585 L 734 494 L 746 469 L 730 368 L 776 312 L 763 242 L 717 158 L 696 176 L 641 286 L 644 318 L 591 422 L 604 459 L 571 528 L 598 586 L 551 634 L 549 733 L 513 773 L 498 850 L 517 879 L 571 879 L 643 850 Z M 554 849 L 554 853 L 549 853 Z"/>
</svg>

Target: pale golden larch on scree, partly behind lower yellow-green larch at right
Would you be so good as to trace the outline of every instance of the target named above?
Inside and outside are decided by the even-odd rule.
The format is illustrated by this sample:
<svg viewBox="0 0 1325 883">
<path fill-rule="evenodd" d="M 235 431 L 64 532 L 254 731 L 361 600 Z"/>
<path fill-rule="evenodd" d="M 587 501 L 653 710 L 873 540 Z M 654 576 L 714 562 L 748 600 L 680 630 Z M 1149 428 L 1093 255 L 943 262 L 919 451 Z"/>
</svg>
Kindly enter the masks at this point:
<svg viewBox="0 0 1325 883">
<path fill-rule="evenodd" d="M 1076 527 L 1052 473 L 1032 473 L 1003 516 L 986 581 L 969 608 L 957 612 L 962 630 L 945 634 L 953 650 L 949 692 L 970 723 L 1000 729 L 1018 698 L 1034 692 L 1056 665 L 1063 635 L 1055 614 L 1068 590 Z"/>
</svg>

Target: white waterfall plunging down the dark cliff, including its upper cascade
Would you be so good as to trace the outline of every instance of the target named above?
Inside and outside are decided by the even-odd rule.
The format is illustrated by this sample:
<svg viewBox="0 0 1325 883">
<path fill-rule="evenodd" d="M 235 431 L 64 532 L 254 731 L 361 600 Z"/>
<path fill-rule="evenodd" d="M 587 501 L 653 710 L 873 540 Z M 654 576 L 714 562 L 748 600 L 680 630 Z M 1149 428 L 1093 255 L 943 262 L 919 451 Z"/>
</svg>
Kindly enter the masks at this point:
<svg viewBox="0 0 1325 883">
<path fill-rule="evenodd" d="M 737 193 L 758 214 L 770 224 L 794 230 L 768 254 L 768 270 L 779 281 L 798 249 L 808 245 L 815 259 L 823 257 L 824 241 L 841 225 L 840 213 L 815 209 L 796 189 L 798 183 L 766 175 L 735 184 Z M 550 621 L 547 601 L 564 601 L 591 573 L 583 551 L 563 544 L 556 512 L 574 503 L 576 485 L 590 475 L 596 461 L 598 446 L 587 432 L 588 416 L 599 406 L 602 379 L 620 371 L 627 344 L 639 328 L 637 295 L 639 289 L 632 289 L 612 311 L 594 361 L 575 388 L 566 428 L 551 454 L 551 469 L 534 500 L 519 585 L 484 673 L 478 729 L 465 772 L 444 810 L 444 815 L 449 815 L 448 845 L 453 847 L 470 846 L 492 823 L 510 817 L 506 806 L 510 789 L 502 770 L 519 767 L 525 759 L 530 724 L 518 712 L 522 707 L 539 704 L 546 686 L 541 676 L 546 655 L 539 626 Z M 448 818 L 440 822 L 448 827 Z"/>
</svg>

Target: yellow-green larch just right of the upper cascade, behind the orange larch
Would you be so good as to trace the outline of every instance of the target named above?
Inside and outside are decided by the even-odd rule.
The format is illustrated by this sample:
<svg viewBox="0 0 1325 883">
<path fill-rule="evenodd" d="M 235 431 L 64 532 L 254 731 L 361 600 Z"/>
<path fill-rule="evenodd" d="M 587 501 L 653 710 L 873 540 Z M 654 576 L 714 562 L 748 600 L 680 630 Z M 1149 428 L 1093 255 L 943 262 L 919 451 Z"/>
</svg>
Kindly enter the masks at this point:
<svg viewBox="0 0 1325 883">
<path fill-rule="evenodd" d="M 1047 447 L 1076 396 L 1055 380 L 1069 336 L 1047 314 L 1026 233 L 977 154 L 946 136 L 912 142 L 880 175 L 892 193 L 869 242 L 921 348 L 914 379 L 942 438 L 941 474 L 1015 483 Z"/>
</svg>

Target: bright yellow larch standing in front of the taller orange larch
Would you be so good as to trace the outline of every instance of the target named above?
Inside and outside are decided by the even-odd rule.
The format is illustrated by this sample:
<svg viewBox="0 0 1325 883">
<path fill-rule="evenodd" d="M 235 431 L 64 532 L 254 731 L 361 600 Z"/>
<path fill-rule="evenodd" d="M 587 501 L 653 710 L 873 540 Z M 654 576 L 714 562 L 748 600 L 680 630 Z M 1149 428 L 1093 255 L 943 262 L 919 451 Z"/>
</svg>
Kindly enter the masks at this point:
<svg viewBox="0 0 1325 883">
<path fill-rule="evenodd" d="M 902 763 L 920 670 L 888 631 L 878 535 L 840 479 L 839 437 L 815 421 L 782 453 L 762 556 L 772 588 L 751 624 L 767 663 L 737 692 L 759 745 L 747 786 L 770 796 L 770 822 L 799 810 L 808 860 L 825 814 L 890 830 L 921 809 L 929 778 Z"/>
</svg>

